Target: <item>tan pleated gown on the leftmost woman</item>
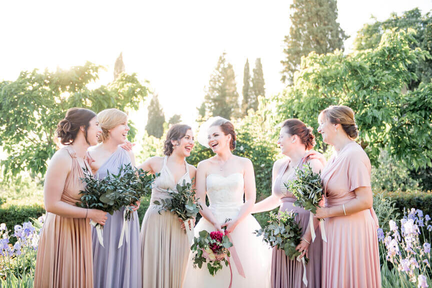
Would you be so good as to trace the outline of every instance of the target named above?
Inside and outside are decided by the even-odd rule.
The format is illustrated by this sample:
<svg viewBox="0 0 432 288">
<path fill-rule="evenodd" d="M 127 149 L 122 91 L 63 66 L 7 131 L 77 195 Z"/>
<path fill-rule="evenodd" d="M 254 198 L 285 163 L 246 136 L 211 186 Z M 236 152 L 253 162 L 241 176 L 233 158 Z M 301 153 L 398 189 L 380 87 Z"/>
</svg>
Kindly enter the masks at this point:
<svg viewBox="0 0 432 288">
<path fill-rule="evenodd" d="M 84 177 L 72 147 L 64 148 L 72 167 L 64 183 L 61 201 L 75 205 Z M 90 165 L 84 160 L 87 169 Z M 91 170 L 90 170 L 91 171 Z M 93 261 L 89 220 L 46 213 L 40 232 L 33 288 L 92 288 Z"/>
</svg>

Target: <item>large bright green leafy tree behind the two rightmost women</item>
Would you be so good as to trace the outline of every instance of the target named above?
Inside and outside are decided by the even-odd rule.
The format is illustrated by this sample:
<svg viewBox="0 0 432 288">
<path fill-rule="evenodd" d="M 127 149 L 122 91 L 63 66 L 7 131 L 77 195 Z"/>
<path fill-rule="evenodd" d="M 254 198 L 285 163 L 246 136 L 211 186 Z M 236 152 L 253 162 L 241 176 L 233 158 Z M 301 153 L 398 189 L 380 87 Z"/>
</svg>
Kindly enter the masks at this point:
<svg viewBox="0 0 432 288">
<path fill-rule="evenodd" d="M 359 141 L 372 163 L 383 149 L 407 167 L 432 166 L 432 84 L 403 93 L 417 77 L 407 66 L 430 58 L 427 51 L 412 49 L 411 41 L 412 33 L 390 31 L 374 49 L 310 53 L 294 85 L 276 97 L 278 121 L 296 117 L 317 128 L 319 111 L 347 105 L 355 112 Z"/>
</svg>

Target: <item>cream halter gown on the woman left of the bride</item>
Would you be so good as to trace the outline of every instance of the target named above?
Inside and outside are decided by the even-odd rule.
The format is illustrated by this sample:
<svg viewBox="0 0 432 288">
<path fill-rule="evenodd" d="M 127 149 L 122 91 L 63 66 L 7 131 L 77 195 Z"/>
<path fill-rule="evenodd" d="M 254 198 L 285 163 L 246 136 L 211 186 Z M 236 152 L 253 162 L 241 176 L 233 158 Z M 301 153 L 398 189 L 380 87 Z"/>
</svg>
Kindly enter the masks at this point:
<svg viewBox="0 0 432 288">
<path fill-rule="evenodd" d="M 169 211 L 159 214 L 154 201 L 165 199 L 167 189 L 176 191 L 183 180 L 190 183 L 189 168 L 175 183 L 174 176 L 163 159 L 160 175 L 153 182 L 150 205 L 141 226 L 142 288 L 181 288 L 187 265 L 189 245 L 186 232 L 178 217 Z"/>
</svg>

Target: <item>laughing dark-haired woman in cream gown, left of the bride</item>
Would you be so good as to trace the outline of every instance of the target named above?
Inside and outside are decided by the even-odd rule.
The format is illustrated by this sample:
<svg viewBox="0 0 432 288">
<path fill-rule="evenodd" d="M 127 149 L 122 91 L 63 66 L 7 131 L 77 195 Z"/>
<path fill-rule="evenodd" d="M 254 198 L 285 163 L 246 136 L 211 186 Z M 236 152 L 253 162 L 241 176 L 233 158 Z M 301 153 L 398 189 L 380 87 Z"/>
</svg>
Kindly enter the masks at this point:
<svg viewBox="0 0 432 288">
<path fill-rule="evenodd" d="M 166 198 L 167 190 L 190 183 L 196 168 L 186 163 L 185 157 L 193 148 L 193 133 L 189 126 L 175 124 L 166 134 L 163 154 L 152 157 L 137 168 L 160 173 L 153 183 L 150 206 L 141 226 L 142 288 L 181 288 L 186 272 L 189 244 L 186 232 L 177 216 L 170 212 L 158 213 L 153 201 Z"/>
</svg>

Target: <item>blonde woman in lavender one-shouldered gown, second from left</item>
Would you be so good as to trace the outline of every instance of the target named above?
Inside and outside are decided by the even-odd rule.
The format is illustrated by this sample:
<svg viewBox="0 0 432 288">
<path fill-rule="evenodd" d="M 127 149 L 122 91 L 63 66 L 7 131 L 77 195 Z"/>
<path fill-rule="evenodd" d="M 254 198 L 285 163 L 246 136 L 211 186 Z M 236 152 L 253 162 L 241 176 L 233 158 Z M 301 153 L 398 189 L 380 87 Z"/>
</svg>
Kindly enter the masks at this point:
<svg viewBox="0 0 432 288">
<path fill-rule="evenodd" d="M 131 151 L 126 151 L 118 145 L 125 143 L 127 132 L 126 113 L 115 108 L 105 109 L 97 114 L 102 134 L 99 145 L 89 151 L 93 160 L 91 170 L 98 179 L 104 178 L 107 171 L 118 173 L 120 167 L 131 163 L 135 165 Z M 123 228 L 123 211 L 107 215 L 108 219 L 103 227 L 103 246 L 99 244 L 96 229 L 91 228 L 93 241 L 93 279 L 94 288 L 129 288 L 141 286 L 141 260 L 139 241 L 139 220 L 136 206 L 132 206 L 132 218 L 128 221 L 128 243 L 125 236 L 122 246 L 117 249 L 120 233 Z"/>
</svg>

